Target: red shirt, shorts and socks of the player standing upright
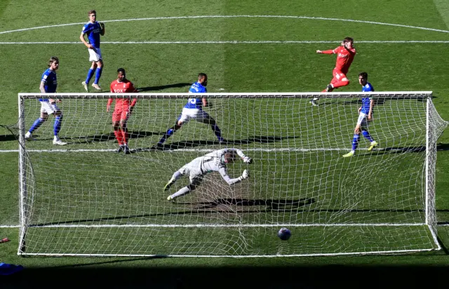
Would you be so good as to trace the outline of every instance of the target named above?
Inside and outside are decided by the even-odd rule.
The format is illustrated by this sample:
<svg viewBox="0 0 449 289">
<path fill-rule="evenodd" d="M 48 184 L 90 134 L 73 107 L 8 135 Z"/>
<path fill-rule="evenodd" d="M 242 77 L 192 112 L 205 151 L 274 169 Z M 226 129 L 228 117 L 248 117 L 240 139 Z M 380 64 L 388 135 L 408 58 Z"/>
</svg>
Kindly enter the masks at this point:
<svg viewBox="0 0 449 289">
<path fill-rule="evenodd" d="M 123 81 L 114 80 L 111 83 L 111 93 L 137 93 L 137 89 L 128 79 Z M 110 107 L 114 98 L 107 100 L 107 106 Z M 119 145 L 128 145 L 129 134 L 126 130 L 126 121 L 129 117 L 130 107 L 134 107 L 138 100 L 133 98 L 131 102 L 128 98 L 117 98 L 115 102 L 114 112 L 112 113 L 112 122 L 125 121 L 123 130 L 114 128 L 114 135 L 119 142 Z M 130 103 L 131 102 L 131 103 Z"/>
</svg>

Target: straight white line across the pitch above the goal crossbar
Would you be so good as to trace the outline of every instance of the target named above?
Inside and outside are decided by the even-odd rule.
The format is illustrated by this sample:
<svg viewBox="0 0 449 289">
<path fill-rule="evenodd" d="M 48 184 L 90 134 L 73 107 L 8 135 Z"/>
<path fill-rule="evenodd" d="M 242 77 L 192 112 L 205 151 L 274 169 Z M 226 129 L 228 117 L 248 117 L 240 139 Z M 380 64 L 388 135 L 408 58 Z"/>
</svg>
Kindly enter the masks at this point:
<svg viewBox="0 0 449 289">
<path fill-rule="evenodd" d="M 340 43 L 342 41 L 104 41 L 102 44 L 314 44 L 314 43 Z M 409 44 L 409 43 L 449 43 L 449 41 L 421 41 L 421 40 L 398 40 L 398 41 L 382 41 L 382 40 L 369 40 L 369 41 L 354 41 L 354 43 L 398 43 L 398 44 Z M 29 42 L 0 42 L 0 45 L 14 45 L 14 44 L 75 44 L 81 45 L 81 42 L 73 41 L 29 41 Z"/>
</svg>

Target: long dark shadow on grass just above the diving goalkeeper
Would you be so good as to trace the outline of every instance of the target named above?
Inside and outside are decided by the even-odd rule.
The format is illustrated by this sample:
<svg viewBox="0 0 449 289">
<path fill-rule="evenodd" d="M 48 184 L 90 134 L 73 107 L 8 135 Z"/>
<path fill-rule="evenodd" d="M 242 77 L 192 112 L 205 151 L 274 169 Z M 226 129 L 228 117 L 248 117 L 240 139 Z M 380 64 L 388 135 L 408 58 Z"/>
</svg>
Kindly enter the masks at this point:
<svg viewBox="0 0 449 289">
<path fill-rule="evenodd" d="M 281 140 L 292 139 L 300 137 L 297 136 L 274 136 L 274 135 L 254 135 L 244 140 L 227 140 L 226 142 L 218 142 L 217 140 L 185 140 L 182 142 L 172 142 L 170 144 L 163 144 L 157 147 L 147 147 L 142 149 L 135 149 L 135 152 L 147 152 L 152 150 L 173 150 L 185 149 L 188 147 L 199 147 L 203 145 L 248 145 L 250 143 L 267 144 L 271 142 L 279 142 Z"/>
</svg>

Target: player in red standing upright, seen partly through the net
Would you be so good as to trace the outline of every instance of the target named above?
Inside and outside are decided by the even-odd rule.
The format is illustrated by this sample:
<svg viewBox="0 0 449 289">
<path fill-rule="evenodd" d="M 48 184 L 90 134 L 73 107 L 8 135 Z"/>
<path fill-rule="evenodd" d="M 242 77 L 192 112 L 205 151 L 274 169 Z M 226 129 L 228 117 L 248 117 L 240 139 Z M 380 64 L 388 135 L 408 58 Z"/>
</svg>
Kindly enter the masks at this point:
<svg viewBox="0 0 449 289">
<path fill-rule="evenodd" d="M 131 81 L 126 79 L 125 69 L 117 69 L 117 79 L 111 83 L 111 93 L 137 93 L 138 90 L 134 88 Z M 110 112 L 111 104 L 114 98 L 107 100 L 106 112 Z M 117 98 L 115 102 L 114 113 L 112 114 L 112 126 L 114 127 L 114 135 L 119 142 L 119 149 L 116 152 L 124 151 L 125 154 L 129 154 L 128 139 L 129 134 L 126 129 L 126 122 L 133 112 L 135 102 L 138 100 L 133 98 L 131 102 L 129 98 Z M 131 103 L 130 103 L 131 102 Z"/>
</svg>

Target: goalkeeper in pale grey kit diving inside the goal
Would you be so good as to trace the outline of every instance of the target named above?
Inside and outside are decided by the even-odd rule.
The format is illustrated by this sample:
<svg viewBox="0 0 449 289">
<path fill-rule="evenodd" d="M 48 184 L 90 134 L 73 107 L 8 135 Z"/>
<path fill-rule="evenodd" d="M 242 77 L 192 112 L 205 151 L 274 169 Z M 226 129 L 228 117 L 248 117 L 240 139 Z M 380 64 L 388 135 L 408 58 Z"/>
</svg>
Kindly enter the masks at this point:
<svg viewBox="0 0 449 289">
<path fill-rule="evenodd" d="M 168 190 L 170 186 L 174 184 L 182 175 L 189 175 L 190 183 L 186 187 L 183 187 L 179 191 L 175 192 L 175 194 L 168 196 L 167 200 L 173 201 L 173 199 L 178 196 L 189 194 L 190 191 L 193 191 L 199 186 L 199 184 L 201 184 L 204 175 L 210 172 L 220 173 L 223 180 L 225 180 L 229 185 L 236 184 L 241 182 L 241 180 L 247 179 L 249 177 L 248 170 L 243 170 L 241 176 L 236 177 L 235 179 L 232 179 L 229 175 L 227 175 L 226 165 L 227 163 L 233 163 L 237 158 L 236 155 L 238 155 L 245 163 L 252 163 L 253 161 L 248 156 L 245 156 L 240 149 L 218 149 L 214 152 L 206 154 L 205 156 L 200 156 L 190 163 L 187 163 L 187 165 L 183 166 L 173 174 L 163 190 Z"/>
</svg>

